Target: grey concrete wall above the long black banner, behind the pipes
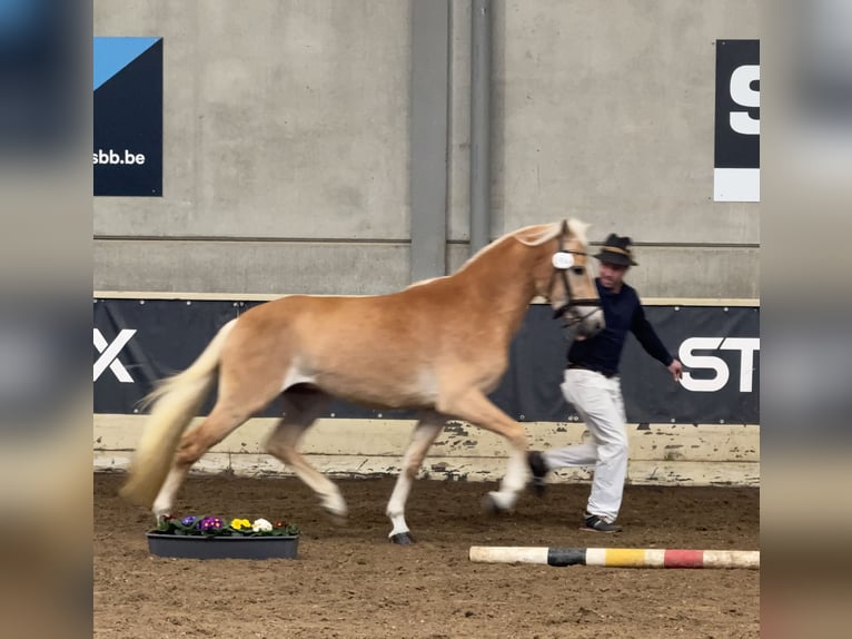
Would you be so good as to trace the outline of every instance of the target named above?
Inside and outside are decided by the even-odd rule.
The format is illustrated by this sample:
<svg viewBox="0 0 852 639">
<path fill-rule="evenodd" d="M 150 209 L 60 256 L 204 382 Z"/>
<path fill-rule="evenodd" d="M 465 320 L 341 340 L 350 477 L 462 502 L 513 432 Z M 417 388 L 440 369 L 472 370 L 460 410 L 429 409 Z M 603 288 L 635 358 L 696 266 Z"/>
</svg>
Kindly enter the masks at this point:
<svg viewBox="0 0 852 639">
<path fill-rule="evenodd" d="M 408 284 L 410 16 L 96 0 L 97 36 L 165 38 L 165 168 L 162 198 L 96 199 L 95 288 Z M 756 0 L 505 0 L 493 18 L 492 236 L 576 216 L 640 244 L 646 297 L 757 297 L 760 205 L 712 200 L 714 41 L 757 38 Z M 468 253 L 469 33 L 452 2 L 449 271 Z"/>
</svg>

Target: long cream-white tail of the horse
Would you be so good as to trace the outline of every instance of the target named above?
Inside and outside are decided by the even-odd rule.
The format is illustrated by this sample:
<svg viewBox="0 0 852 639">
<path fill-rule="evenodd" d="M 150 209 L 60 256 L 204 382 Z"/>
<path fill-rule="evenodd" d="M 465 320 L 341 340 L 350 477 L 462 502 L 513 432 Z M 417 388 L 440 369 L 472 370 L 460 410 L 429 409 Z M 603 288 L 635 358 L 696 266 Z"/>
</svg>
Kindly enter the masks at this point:
<svg viewBox="0 0 852 639">
<path fill-rule="evenodd" d="M 237 320 L 222 326 L 189 368 L 160 382 L 143 403 L 151 415 L 136 449 L 130 472 L 119 494 L 150 508 L 171 468 L 180 436 L 210 392 L 225 338 Z"/>
</svg>

